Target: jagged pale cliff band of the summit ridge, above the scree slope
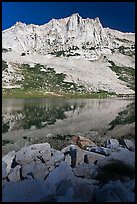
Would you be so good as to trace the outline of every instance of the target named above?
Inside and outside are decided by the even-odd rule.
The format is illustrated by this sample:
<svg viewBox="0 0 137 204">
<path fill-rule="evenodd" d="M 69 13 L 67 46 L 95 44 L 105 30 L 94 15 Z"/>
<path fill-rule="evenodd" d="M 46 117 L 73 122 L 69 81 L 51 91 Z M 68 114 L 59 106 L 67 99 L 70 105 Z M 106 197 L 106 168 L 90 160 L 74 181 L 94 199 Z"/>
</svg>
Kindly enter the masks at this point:
<svg viewBox="0 0 137 204">
<path fill-rule="evenodd" d="M 134 45 L 134 33 L 122 33 L 103 28 L 99 18 L 83 19 L 73 14 L 49 23 L 26 25 L 17 22 L 2 33 L 2 46 L 20 53 L 48 54 L 56 51 L 75 51 L 80 55 L 110 53 L 121 45 Z"/>
</svg>

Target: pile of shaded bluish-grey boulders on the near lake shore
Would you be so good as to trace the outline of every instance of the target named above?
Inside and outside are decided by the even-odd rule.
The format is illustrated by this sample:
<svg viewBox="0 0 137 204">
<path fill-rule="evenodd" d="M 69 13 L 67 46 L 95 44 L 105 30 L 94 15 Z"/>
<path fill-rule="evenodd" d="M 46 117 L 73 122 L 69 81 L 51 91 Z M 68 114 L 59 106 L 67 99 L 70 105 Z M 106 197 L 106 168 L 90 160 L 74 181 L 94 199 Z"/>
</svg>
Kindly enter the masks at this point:
<svg viewBox="0 0 137 204">
<path fill-rule="evenodd" d="M 134 141 L 77 139 L 81 148 L 33 144 L 3 156 L 3 202 L 135 202 Z"/>
</svg>

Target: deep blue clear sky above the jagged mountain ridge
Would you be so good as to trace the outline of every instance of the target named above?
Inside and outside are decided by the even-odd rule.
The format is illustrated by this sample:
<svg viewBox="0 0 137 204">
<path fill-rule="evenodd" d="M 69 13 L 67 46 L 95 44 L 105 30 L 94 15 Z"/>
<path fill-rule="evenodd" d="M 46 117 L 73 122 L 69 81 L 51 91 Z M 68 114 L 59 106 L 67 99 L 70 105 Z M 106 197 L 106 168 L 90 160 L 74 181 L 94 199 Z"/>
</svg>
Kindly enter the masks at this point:
<svg viewBox="0 0 137 204">
<path fill-rule="evenodd" d="M 2 30 L 19 21 L 43 25 L 73 13 L 99 17 L 103 27 L 135 32 L 135 2 L 2 2 Z"/>
</svg>

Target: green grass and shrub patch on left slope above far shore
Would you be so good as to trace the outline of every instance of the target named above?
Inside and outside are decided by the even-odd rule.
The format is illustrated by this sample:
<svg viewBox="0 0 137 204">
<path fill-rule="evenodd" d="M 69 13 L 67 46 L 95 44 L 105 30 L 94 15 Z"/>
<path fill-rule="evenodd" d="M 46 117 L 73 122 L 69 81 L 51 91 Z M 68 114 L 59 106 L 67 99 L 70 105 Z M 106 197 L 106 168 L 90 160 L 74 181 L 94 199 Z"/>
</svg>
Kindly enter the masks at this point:
<svg viewBox="0 0 137 204">
<path fill-rule="evenodd" d="M 5 68 L 6 64 L 3 62 Z M 64 98 L 106 98 L 115 93 L 100 90 L 89 92 L 80 84 L 66 81 L 66 75 L 56 73 L 54 68 L 35 64 L 20 65 L 20 74 L 24 80 L 16 81 L 21 88 L 2 89 L 3 97 L 34 98 L 34 97 L 64 97 Z"/>
</svg>

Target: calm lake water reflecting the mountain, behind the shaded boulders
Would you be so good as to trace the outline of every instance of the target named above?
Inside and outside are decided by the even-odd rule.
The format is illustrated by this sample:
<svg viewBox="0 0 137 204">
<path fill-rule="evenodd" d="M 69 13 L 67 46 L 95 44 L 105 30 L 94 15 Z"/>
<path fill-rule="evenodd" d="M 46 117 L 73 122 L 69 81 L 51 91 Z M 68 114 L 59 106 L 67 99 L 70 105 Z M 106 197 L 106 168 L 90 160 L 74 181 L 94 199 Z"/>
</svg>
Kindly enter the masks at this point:
<svg viewBox="0 0 137 204">
<path fill-rule="evenodd" d="M 46 141 L 59 149 L 75 134 L 134 137 L 134 122 L 134 99 L 3 99 L 3 152 Z"/>
</svg>

